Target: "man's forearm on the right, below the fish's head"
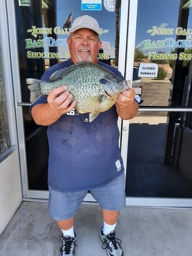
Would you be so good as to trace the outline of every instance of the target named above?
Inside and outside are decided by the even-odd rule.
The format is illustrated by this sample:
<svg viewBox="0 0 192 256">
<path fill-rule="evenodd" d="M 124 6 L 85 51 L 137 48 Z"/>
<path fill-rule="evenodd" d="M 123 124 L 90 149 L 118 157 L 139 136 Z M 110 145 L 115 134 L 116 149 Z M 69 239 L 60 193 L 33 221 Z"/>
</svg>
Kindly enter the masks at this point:
<svg viewBox="0 0 192 256">
<path fill-rule="evenodd" d="M 117 113 L 120 118 L 123 120 L 129 120 L 134 118 L 138 111 L 138 103 L 134 101 L 132 104 L 126 106 L 125 108 L 118 108 Z"/>
</svg>

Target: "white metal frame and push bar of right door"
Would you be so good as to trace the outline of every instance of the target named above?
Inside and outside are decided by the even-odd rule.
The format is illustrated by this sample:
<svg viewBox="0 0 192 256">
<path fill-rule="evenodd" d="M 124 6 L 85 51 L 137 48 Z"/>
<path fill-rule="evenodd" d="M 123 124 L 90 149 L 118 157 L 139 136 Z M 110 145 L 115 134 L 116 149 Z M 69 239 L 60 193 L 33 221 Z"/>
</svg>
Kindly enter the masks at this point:
<svg viewBox="0 0 192 256">
<path fill-rule="evenodd" d="M 125 79 L 131 82 L 132 88 L 132 74 L 135 51 L 136 38 L 136 20 L 137 20 L 137 6 L 138 0 L 129 0 L 129 14 L 128 14 L 128 38 L 126 51 L 126 68 Z M 191 112 L 192 108 L 139 108 L 139 111 L 169 111 L 169 112 Z M 121 154 L 123 156 L 123 163 L 127 167 L 128 154 L 128 137 L 129 137 L 129 121 L 122 121 L 121 133 Z M 192 199 L 190 198 L 157 198 L 157 197 L 126 197 L 126 206 L 143 206 L 143 207 L 192 207 Z"/>
</svg>

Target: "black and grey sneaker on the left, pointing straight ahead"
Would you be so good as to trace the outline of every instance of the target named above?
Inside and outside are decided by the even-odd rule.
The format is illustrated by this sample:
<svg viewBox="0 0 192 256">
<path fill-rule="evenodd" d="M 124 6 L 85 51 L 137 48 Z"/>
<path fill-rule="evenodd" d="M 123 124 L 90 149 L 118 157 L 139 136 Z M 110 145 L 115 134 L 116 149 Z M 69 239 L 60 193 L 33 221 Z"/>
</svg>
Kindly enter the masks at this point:
<svg viewBox="0 0 192 256">
<path fill-rule="evenodd" d="M 74 237 L 71 236 L 61 236 L 62 238 L 62 243 L 61 243 L 61 249 L 59 256 L 75 256 L 75 246 L 76 243 L 76 234 L 74 233 Z"/>
</svg>

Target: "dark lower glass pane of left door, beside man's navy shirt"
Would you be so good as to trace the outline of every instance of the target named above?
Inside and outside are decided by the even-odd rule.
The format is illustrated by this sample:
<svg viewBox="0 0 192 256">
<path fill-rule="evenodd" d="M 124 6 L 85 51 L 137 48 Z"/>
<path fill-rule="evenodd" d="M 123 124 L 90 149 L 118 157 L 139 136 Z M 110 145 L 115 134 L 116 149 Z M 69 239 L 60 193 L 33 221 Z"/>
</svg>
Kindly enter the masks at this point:
<svg viewBox="0 0 192 256">
<path fill-rule="evenodd" d="M 35 190 L 48 190 L 48 156 L 49 146 L 47 139 L 47 127 L 37 125 L 31 114 L 29 107 L 22 107 L 25 141 L 28 187 Z"/>
</svg>

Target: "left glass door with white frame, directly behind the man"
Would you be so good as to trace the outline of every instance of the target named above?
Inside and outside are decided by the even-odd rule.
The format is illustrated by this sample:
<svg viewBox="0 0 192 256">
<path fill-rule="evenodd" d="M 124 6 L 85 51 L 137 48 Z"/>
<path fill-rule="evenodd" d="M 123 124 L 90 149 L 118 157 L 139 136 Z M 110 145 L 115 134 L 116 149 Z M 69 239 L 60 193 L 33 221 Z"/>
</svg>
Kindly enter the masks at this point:
<svg viewBox="0 0 192 256">
<path fill-rule="evenodd" d="M 102 47 L 98 59 L 124 75 L 128 1 L 15 0 L 8 6 L 20 164 L 24 197 L 48 198 L 49 147 L 46 127 L 30 113 L 26 78 L 40 79 L 49 67 L 70 58 L 67 38 L 71 21 L 82 15 L 98 20 Z M 13 15 L 14 14 L 14 15 Z M 119 128 L 121 121 L 118 121 Z M 85 200 L 92 201 L 90 195 Z"/>
</svg>

